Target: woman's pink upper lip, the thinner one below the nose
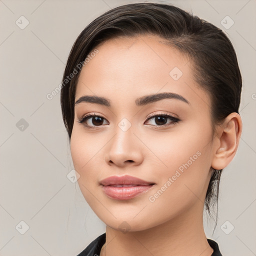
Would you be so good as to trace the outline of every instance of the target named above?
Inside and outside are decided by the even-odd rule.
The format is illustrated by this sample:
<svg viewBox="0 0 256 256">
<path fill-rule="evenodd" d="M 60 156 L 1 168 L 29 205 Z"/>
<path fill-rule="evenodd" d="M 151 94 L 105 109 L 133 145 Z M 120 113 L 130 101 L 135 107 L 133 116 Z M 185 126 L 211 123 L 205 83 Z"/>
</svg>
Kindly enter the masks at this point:
<svg viewBox="0 0 256 256">
<path fill-rule="evenodd" d="M 123 176 L 110 176 L 107 178 L 104 178 L 99 181 L 101 185 L 107 186 L 107 185 L 150 185 L 154 184 L 153 182 L 147 182 L 143 179 L 133 177 L 130 175 L 123 175 Z"/>
</svg>

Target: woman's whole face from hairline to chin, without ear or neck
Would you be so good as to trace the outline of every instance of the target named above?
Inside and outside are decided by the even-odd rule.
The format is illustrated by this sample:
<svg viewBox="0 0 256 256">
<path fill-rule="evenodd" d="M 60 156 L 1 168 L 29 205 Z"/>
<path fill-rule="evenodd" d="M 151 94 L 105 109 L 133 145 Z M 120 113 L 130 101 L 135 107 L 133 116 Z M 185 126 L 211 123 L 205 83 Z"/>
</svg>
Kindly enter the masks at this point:
<svg viewBox="0 0 256 256">
<path fill-rule="evenodd" d="M 158 40 L 104 42 L 77 83 L 75 102 L 97 96 L 109 103 L 87 97 L 75 104 L 70 149 L 84 198 L 114 229 L 137 231 L 198 216 L 210 179 L 209 95 L 193 80 L 191 62 Z M 173 94 L 149 100 L 163 92 Z M 87 114 L 95 116 L 78 122 Z M 146 183 L 124 177 L 101 184 L 124 175 Z"/>
</svg>

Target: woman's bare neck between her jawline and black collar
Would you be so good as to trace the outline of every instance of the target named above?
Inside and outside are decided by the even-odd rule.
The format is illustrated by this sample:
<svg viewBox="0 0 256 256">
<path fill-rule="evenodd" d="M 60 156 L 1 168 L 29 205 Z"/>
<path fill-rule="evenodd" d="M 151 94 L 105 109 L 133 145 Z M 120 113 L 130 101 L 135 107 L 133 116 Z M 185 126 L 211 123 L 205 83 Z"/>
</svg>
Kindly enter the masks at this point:
<svg viewBox="0 0 256 256">
<path fill-rule="evenodd" d="M 124 233 L 106 226 L 106 242 L 100 256 L 210 256 L 213 249 L 204 233 L 202 206 L 194 205 L 162 224 L 141 231 Z"/>
</svg>

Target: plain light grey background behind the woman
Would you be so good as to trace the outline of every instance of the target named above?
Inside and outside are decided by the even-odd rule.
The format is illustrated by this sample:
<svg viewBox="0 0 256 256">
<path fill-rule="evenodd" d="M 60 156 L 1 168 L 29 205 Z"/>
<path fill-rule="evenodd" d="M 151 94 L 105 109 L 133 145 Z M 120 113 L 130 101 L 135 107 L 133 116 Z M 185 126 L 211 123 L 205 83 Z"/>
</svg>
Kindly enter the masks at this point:
<svg viewBox="0 0 256 256">
<path fill-rule="evenodd" d="M 0 255 L 76 255 L 105 231 L 77 182 L 66 176 L 73 165 L 60 93 L 51 100 L 46 95 L 61 82 L 81 30 L 104 11 L 130 2 L 138 1 L 0 0 Z M 214 222 L 206 218 L 204 228 L 223 255 L 256 255 L 256 1 L 168 2 L 223 29 L 237 52 L 243 130 L 221 176 L 216 230 L 211 235 Z M 29 21 L 23 29 L 21 15 Z M 228 29 L 220 23 L 226 15 L 234 21 Z M 28 123 L 23 130 L 21 118 Z M 24 234 L 21 220 L 29 226 Z"/>
</svg>

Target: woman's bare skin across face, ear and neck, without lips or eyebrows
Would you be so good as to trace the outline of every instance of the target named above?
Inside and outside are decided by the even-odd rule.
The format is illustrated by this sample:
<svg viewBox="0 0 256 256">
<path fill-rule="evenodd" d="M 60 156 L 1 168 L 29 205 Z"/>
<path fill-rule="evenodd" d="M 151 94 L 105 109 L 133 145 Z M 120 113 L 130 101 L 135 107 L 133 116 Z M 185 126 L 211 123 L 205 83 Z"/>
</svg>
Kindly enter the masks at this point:
<svg viewBox="0 0 256 256">
<path fill-rule="evenodd" d="M 209 95 L 193 80 L 191 62 L 160 40 L 153 35 L 107 40 L 97 46 L 99 52 L 82 68 L 78 79 L 75 101 L 83 95 L 111 101 L 110 107 L 76 104 L 70 139 L 81 192 L 106 224 L 106 246 L 100 256 L 209 256 L 213 252 L 202 218 L 210 166 L 221 169 L 232 160 L 241 119 L 237 113 L 229 114 L 213 134 Z M 174 67 L 182 71 L 177 80 L 169 75 Z M 135 105 L 137 97 L 160 92 L 180 94 L 189 104 L 162 99 Z M 77 121 L 87 113 L 103 116 L 101 126 L 87 128 Z M 154 117 L 146 121 L 152 113 L 169 113 L 180 121 L 173 123 L 167 118 L 169 125 L 162 128 Z M 118 127 L 123 118 L 131 124 L 125 132 Z M 93 118 L 86 123 L 97 125 Z M 150 201 L 149 196 L 198 151 L 200 155 Z M 124 174 L 155 185 L 129 200 L 106 196 L 99 181 Z"/>
</svg>

